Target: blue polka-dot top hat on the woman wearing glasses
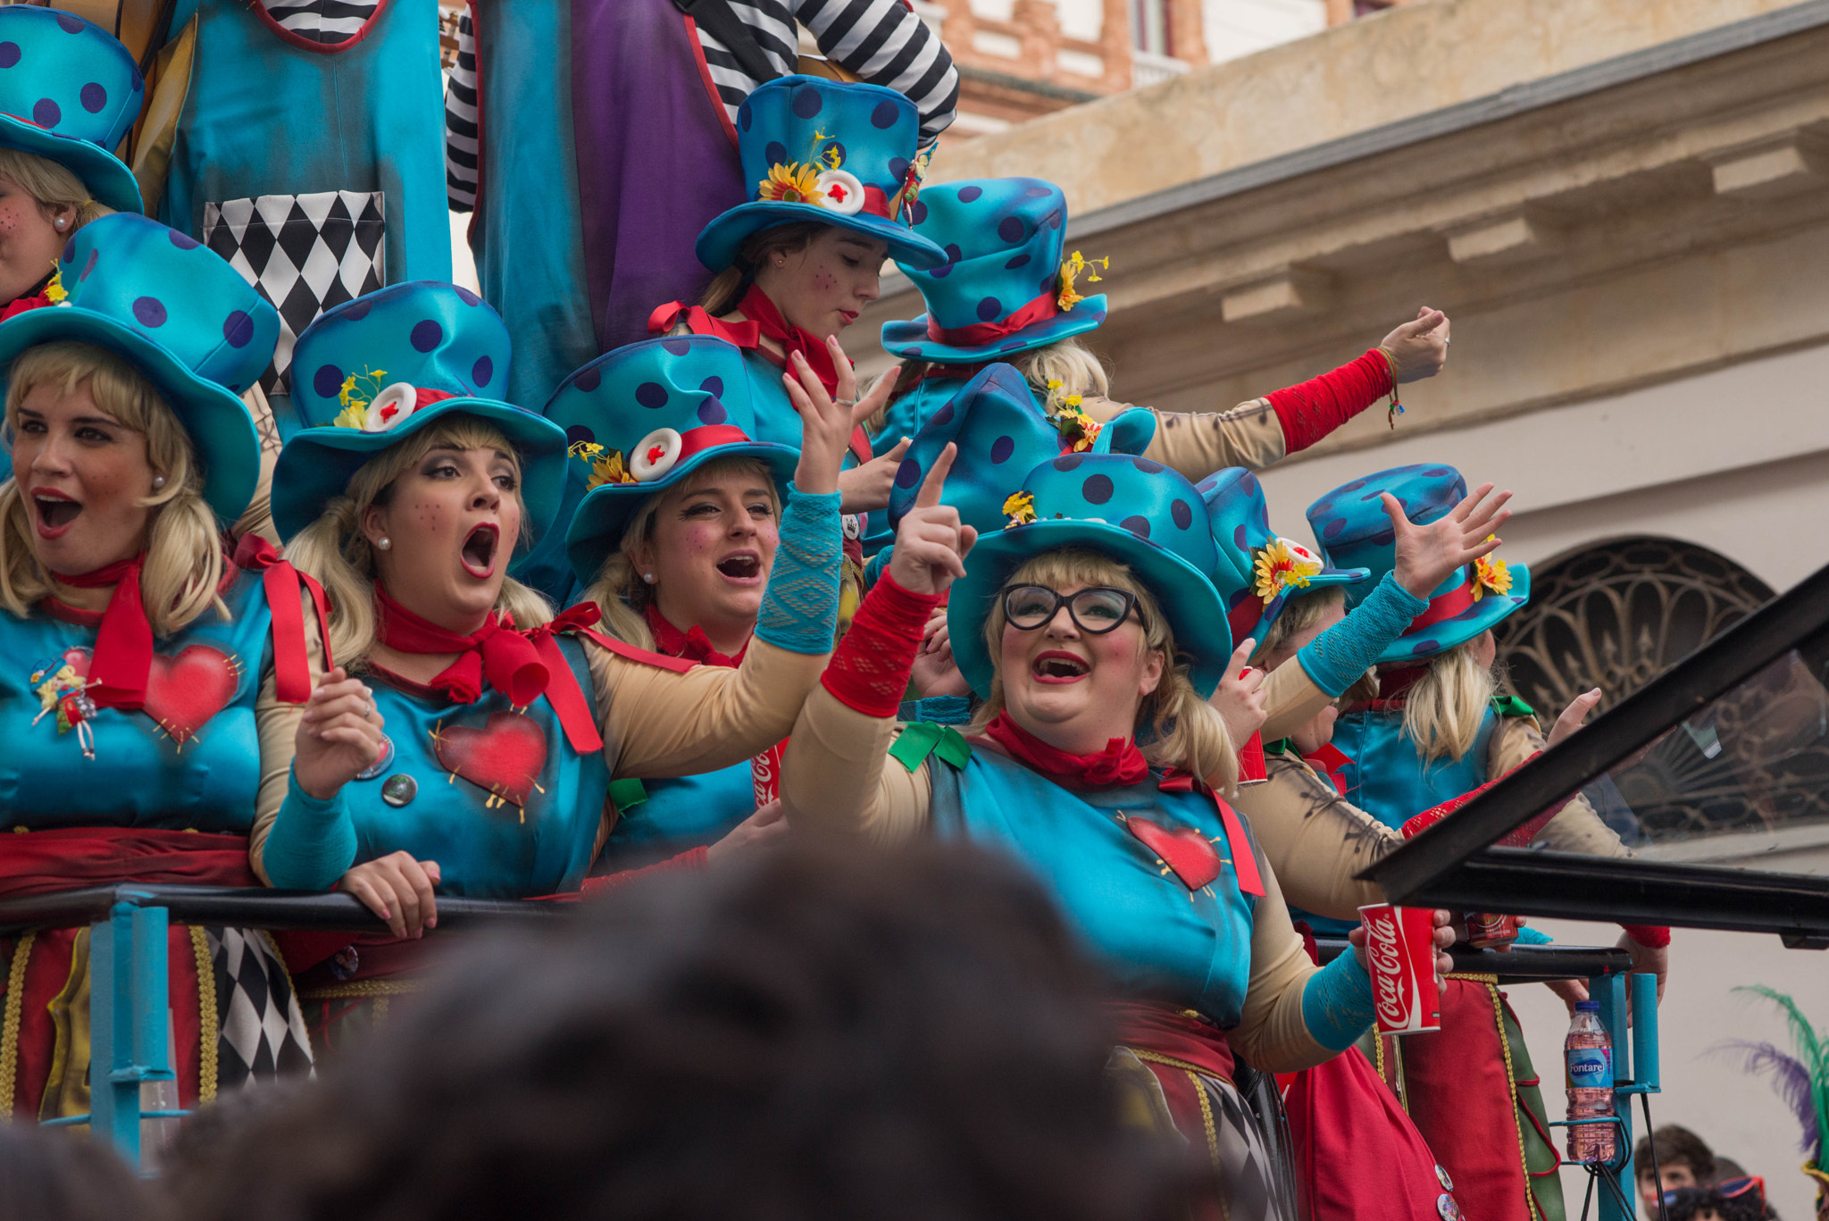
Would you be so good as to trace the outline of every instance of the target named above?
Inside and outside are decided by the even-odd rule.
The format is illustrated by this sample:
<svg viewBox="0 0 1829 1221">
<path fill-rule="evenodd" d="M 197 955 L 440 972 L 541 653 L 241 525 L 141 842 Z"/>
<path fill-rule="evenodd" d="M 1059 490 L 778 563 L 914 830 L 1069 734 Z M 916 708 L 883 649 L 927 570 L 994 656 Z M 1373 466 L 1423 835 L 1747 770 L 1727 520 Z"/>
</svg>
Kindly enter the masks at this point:
<svg viewBox="0 0 1829 1221">
<path fill-rule="evenodd" d="M 984 621 L 1004 582 L 1044 551 L 1072 549 L 1105 555 L 1136 575 L 1169 619 L 1194 690 L 1211 696 L 1225 677 L 1233 633 L 1207 578 L 1213 533 L 1194 485 L 1149 458 L 1061 454 L 1006 487 L 1015 492 L 1008 525 L 979 536 L 946 610 L 953 657 L 971 690 L 991 690 Z"/>
</svg>

